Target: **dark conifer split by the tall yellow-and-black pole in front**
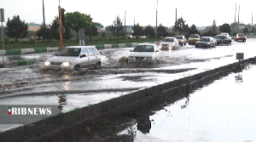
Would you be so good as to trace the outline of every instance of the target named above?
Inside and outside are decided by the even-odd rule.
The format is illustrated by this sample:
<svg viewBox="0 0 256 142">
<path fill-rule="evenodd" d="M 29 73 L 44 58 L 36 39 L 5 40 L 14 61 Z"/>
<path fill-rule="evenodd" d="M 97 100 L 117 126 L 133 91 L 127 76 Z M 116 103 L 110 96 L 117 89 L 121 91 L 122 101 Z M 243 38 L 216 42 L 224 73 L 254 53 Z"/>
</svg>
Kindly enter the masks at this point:
<svg viewBox="0 0 256 142">
<path fill-rule="evenodd" d="M 55 17 L 55 20 L 52 21 L 50 26 L 51 29 L 51 35 L 52 38 L 56 39 L 56 40 L 60 40 L 60 33 L 58 32 L 59 30 L 59 24 L 57 23 L 58 17 Z M 71 29 L 66 26 L 64 26 L 66 31 L 63 34 L 63 38 L 69 40 L 70 38 L 73 37 L 72 33 L 71 33 Z"/>
</svg>

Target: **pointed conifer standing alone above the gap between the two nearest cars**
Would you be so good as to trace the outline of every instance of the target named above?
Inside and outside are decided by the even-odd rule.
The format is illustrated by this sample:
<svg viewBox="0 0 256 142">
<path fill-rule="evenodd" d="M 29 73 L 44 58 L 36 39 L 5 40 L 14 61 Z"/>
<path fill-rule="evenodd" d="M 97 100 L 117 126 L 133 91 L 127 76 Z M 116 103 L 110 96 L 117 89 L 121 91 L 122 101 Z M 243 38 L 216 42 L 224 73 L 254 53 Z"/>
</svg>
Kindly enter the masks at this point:
<svg viewBox="0 0 256 142">
<path fill-rule="evenodd" d="M 126 35 L 126 26 L 123 26 L 123 22 L 121 22 L 119 15 L 116 17 L 116 20 L 113 20 L 113 25 L 110 27 L 110 31 L 112 31 L 111 34 L 113 34 L 114 37 L 125 37 Z"/>
</svg>

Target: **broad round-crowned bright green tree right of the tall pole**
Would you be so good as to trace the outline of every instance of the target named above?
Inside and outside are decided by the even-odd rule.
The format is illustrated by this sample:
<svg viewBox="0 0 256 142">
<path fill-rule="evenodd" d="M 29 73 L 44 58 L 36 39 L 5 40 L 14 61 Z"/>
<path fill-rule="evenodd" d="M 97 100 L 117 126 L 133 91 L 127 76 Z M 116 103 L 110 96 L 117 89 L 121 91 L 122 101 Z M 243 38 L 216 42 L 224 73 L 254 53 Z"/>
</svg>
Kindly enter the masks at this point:
<svg viewBox="0 0 256 142">
<path fill-rule="evenodd" d="M 90 14 L 81 14 L 78 11 L 66 14 L 66 26 L 77 32 L 77 40 L 79 40 L 79 30 L 88 28 L 92 25 Z"/>
</svg>

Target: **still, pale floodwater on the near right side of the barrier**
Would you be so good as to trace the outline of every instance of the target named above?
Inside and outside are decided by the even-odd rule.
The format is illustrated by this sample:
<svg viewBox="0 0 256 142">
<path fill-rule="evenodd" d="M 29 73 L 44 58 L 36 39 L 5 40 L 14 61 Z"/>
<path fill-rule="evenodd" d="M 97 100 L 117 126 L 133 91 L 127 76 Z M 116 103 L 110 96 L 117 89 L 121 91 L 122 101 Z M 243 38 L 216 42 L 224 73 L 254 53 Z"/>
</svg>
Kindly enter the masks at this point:
<svg viewBox="0 0 256 142">
<path fill-rule="evenodd" d="M 148 133 L 137 130 L 136 122 L 118 135 L 132 129 L 134 142 L 255 142 L 255 72 L 252 65 L 195 90 L 189 98 L 154 107 L 146 112 L 151 122 Z"/>
</svg>

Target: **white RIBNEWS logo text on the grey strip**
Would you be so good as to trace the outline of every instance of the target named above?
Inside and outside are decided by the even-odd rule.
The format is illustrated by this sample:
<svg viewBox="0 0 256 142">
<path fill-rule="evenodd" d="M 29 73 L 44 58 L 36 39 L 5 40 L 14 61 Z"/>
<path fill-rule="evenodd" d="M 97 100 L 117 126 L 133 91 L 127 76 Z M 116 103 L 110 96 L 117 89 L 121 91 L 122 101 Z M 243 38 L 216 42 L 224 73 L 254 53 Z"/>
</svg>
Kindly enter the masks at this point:
<svg viewBox="0 0 256 142">
<path fill-rule="evenodd" d="M 36 115 L 44 116 L 51 115 L 50 107 L 11 107 L 9 106 L 9 115 Z"/>
</svg>

